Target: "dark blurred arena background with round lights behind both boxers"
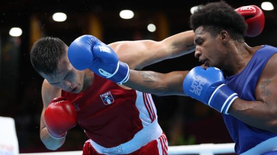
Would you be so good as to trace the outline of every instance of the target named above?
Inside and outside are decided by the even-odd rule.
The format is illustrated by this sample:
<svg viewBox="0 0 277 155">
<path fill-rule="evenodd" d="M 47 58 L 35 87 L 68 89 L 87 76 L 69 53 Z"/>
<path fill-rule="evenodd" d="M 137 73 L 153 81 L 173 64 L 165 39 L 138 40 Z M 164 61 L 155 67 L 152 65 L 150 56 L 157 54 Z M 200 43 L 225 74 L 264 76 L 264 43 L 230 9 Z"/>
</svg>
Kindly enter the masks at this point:
<svg viewBox="0 0 277 155">
<path fill-rule="evenodd" d="M 2 1 L 0 116 L 15 119 L 20 153 L 50 151 L 39 138 L 43 79 L 35 72 L 29 59 L 31 46 L 36 40 L 53 36 L 69 45 L 75 38 L 91 34 L 106 44 L 122 40 L 161 41 L 190 30 L 191 8 L 207 2 L 217 1 Z M 238 8 L 247 5 L 261 7 L 264 1 L 226 2 Z M 250 46 L 277 46 L 277 2 L 267 2 L 271 2 L 274 9 L 270 10 L 269 5 L 269 9 L 264 10 L 263 32 L 254 38 L 245 38 Z M 133 14 L 123 12 L 120 17 L 122 10 L 130 10 Z M 169 72 L 188 70 L 195 65 L 198 65 L 198 60 L 191 53 L 147 66 L 144 70 Z M 188 97 L 153 95 L 153 99 L 169 145 L 233 142 L 221 114 L 212 108 Z M 5 124 L 0 124 L 0 128 L 4 127 Z M 57 151 L 81 150 L 87 139 L 83 130 L 76 126 L 68 132 L 65 144 Z"/>
</svg>

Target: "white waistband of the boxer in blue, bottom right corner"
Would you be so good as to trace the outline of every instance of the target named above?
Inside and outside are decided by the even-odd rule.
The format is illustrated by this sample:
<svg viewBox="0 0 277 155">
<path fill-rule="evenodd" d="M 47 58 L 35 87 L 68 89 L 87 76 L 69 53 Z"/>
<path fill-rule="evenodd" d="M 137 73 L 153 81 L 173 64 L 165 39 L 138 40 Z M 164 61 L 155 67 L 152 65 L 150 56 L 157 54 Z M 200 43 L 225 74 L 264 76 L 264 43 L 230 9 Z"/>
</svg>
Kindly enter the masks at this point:
<svg viewBox="0 0 277 155">
<path fill-rule="evenodd" d="M 273 150 L 277 150 L 277 136 L 264 140 L 263 142 L 257 144 L 251 149 L 248 149 L 240 155 L 262 154 Z"/>
</svg>

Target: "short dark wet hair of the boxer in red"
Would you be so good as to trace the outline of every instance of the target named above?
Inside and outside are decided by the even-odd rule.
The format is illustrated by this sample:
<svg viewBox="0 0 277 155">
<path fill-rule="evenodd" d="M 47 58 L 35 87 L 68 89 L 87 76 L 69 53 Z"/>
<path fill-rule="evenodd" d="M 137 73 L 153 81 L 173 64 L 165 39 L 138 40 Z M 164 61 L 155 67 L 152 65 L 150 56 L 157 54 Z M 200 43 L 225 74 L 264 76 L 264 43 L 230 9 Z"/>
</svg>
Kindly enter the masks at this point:
<svg viewBox="0 0 277 155">
<path fill-rule="evenodd" d="M 45 37 L 36 41 L 30 52 L 33 67 L 38 73 L 55 75 L 57 64 L 68 46 L 59 38 Z"/>
</svg>

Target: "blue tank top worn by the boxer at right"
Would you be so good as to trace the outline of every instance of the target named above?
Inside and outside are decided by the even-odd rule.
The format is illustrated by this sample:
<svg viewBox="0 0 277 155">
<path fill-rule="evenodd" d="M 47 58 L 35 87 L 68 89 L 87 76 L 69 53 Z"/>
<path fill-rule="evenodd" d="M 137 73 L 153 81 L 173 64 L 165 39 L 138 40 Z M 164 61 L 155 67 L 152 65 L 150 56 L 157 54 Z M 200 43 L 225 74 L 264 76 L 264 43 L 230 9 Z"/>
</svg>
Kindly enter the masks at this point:
<svg viewBox="0 0 277 155">
<path fill-rule="evenodd" d="M 239 98 L 256 101 L 255 89 L 259 77 L 269 58 L 277 52 L 276 47 L 264 45 L 252 56 L 242 72 L 229 76 L 226 85 L 236 92 Z M 249 126 L 231 115 L 223 114 L 228 131 L 235 141 L 235 151 L 240 154 L 256 146 L 260 142 L 277 136 L 276 133 Z"/>
</svg>

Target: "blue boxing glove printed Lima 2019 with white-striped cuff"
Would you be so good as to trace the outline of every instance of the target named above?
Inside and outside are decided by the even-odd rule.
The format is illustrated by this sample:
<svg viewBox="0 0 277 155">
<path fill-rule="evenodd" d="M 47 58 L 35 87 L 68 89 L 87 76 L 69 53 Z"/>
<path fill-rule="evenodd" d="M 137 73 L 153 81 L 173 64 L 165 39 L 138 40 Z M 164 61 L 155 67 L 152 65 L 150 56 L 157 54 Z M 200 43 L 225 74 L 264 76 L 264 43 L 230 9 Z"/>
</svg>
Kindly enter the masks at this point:
<svg viewBox="0 0 277 155">
<path fill-rule="evenodd" d="M 238 94 L 225 85 L 223 72 L 216 67 L 192 68 L 183 81 L 183 91 L 186 95 L 201 101 L 217 111 L 228 114 L 233 101 Z"/>
</svg>

